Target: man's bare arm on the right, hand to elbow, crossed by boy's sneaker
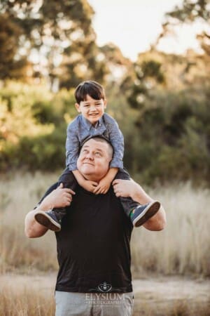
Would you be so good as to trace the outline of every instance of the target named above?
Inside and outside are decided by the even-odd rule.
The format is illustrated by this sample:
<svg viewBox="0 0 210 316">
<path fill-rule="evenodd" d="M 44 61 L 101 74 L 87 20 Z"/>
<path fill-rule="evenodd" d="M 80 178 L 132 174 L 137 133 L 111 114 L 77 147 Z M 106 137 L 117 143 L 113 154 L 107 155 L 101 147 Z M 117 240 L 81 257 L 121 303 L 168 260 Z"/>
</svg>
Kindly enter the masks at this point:
<svg viewBox="0 0 210 316">
<path fill-rule="evenodd" d="M 113 181 L 113 190 L 116 197 L 131 197 L 134 201 L 140 204 L 146 204 L 153 201 L 153 199 L 143 190 L 141 185 L 134 182 L 134 180 L 120 180 Z M 144 223 L 144 228 L 147 230 L 163 230 L 166 225 L 165 209 L 160 206 L 159 211 Z"/>
</svg>

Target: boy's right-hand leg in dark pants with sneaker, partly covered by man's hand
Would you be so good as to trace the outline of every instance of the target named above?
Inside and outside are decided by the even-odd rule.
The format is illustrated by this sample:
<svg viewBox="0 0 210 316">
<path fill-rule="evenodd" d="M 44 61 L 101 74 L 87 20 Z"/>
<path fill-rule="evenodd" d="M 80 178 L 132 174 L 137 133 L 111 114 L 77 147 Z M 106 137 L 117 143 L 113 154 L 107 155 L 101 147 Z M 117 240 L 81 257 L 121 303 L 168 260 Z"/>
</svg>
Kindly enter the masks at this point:
<svg viewBox="0 0 210 316">
<path fill-rule="evenodd" d="M 125 169 L 119 169 L 116 174 L 116 179 L 130 180 L 130 175 Z M 143 225 L 146 220 L 154 216 L 160 209 L 160 203 L 158 201 L 141 205 L 135 202 L 131 197 L 119 198 L 126 215 L 130 217 L 134 226 Z"/>
</svg>

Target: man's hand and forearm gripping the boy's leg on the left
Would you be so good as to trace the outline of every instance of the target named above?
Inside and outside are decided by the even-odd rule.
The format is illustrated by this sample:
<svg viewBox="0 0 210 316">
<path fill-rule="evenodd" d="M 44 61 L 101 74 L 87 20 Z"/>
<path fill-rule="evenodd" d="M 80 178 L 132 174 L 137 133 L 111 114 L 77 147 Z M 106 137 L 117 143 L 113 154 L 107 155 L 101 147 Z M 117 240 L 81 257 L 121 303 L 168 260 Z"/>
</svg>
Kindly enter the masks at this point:
<svg viewBox="0 0 210 316">
<path fill-rule="evenodd" d="M 61 183 L 57 189 L 53 190 L 43 199 L 40 208 L 44 211 L 45 209 L 69 206 L 72 201 L 72 195 L 75 195 L 75 192 L 71 189 L 64 188 Z"/>
</svg>

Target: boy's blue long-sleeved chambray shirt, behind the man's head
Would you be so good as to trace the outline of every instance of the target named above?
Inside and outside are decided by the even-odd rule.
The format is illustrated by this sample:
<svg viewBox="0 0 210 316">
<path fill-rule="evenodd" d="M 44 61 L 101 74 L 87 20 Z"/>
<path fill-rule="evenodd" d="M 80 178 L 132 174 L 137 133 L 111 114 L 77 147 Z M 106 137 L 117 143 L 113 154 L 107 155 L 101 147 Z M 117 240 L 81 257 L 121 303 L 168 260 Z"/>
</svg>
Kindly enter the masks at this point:
<svg viewBox="0 0 210 316">
<path fill-rule="evenodd" d="M 111 168 L 123 168 L 124 138 L 118 123 L 109 114 L 104 113 L 101 119 L 92 126 L 82 114 L 79 114 L 67 127 L 66 138 L 66 166 L 69 171 L 77 169 L 76 162 L 80 145 L 91 136 L 104 136 L 113 146 L 113 159 Z"/>
</svg>

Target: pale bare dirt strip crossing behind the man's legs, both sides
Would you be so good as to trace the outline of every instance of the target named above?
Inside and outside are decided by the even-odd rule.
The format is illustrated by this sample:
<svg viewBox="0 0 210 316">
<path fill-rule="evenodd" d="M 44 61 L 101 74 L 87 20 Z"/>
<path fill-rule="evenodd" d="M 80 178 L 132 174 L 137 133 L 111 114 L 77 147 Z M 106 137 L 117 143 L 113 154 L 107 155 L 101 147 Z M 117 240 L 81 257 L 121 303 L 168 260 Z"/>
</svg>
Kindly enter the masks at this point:
<svg viewBox="0 0 210 316">
<path fill-rule="evenodd" d="M 0 275 L 0 288 L 17 287 L 19 290 L 34 287 L 39 293 L 52 293 L 55 274 L 50 275 Z M 147 277 L 134 279 L 134 316 L 165 315 L 169 305 L 184 302 L 186 305 L 210 303 L 210 280 L 186 277 Z M 144 312 L 143 312 L 144 311 Z M 146 312 L 147 311 L 147 312 Z M 156 311 L 156 312 L 155 312 Z M 196 315 L 199 316 L 199 315 Z"/>
</svg>

